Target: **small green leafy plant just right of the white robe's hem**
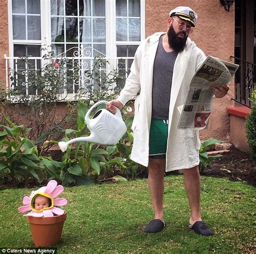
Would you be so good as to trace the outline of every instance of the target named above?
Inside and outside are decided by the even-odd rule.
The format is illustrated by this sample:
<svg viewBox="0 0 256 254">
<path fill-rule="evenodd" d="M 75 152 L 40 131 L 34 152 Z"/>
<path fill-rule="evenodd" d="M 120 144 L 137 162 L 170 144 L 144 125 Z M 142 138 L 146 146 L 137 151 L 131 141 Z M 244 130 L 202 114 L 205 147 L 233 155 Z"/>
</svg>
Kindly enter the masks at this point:
<svg viewBox="0 0 256 254">
<path fill-rule="evenodd" d="M 208 156 L 207 154 L 207 148 L 214 145 L 214 144 L 220 144 L 221 140 L 215 139 L 215 138 L 210 138 L 205 140 L 203 144 L 201 144 L 201 147 L 199 149 L 199 159 L 200 159 L 200 165 L 199 168 L 201 172 L 204 170 L 204 168 L 207 167 L 207 165 L 212 161 L 213 159 L 222 157 L 221 154 L 217 154 L 215 156 Z"/>
</svg>

